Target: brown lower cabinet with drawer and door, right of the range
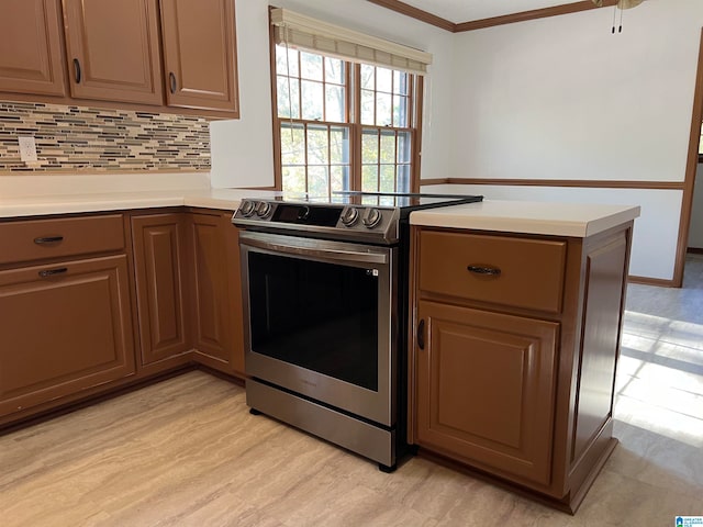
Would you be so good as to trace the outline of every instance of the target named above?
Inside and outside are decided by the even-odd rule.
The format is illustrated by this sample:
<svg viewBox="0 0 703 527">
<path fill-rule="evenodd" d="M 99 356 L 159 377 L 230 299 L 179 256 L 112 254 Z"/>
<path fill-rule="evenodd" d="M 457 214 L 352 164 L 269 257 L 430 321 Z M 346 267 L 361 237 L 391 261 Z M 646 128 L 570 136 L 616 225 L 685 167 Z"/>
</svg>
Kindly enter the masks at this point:
<svg viewBox="0 0 703 527">
<path fill-rule="evenodd" d="M 409 441 L 576 511 L 617 444 L 632 227 L 412 227 Z"/>
</svg>

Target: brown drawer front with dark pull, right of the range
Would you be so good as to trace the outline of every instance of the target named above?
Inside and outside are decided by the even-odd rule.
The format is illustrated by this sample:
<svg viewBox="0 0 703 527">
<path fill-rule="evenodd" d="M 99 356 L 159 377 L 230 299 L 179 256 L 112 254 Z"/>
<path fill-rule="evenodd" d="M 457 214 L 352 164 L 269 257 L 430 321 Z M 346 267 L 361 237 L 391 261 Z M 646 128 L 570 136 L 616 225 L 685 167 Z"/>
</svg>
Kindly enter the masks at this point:
<svg viewBox="0 0 703 527">
<path fill-rule="evenodd" d="M 566 249 L 566 242 L 422 231 L 420 289 L 559 313 Z"/>
</svg>

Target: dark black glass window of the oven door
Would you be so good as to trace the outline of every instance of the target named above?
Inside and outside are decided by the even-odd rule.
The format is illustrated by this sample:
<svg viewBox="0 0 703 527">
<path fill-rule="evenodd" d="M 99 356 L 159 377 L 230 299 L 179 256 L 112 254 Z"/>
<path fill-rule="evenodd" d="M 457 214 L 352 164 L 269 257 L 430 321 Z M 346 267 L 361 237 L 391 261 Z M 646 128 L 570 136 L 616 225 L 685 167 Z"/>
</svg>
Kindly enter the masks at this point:
<svg viewBox="0 0 703 527">
<path fill-rule="evenodd" d="M 373 270 L 249 253 L 252 349 L 378 391 Z"/>
</svg>

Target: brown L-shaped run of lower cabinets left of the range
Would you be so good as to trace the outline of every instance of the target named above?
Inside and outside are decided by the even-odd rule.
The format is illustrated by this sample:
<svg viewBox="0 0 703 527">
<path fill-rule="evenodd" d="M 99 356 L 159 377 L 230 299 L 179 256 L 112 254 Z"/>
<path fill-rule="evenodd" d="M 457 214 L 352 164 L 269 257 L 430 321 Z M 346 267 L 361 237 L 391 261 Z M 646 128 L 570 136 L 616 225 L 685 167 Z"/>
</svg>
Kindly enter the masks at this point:
<svg viewBox="0 0 703 527">
<path fill-rule="evenodd" d="M 0 222 L 0 426 L 193 362 L 243 377 L 231 215 Z"/>
</svg>

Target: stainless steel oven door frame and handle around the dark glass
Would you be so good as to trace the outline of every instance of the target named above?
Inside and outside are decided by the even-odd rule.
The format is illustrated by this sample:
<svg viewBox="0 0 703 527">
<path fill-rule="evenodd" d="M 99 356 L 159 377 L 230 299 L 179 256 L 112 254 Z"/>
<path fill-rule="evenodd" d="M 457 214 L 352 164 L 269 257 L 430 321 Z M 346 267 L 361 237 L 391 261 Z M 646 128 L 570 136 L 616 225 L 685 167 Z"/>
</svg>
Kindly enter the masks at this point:
<svg viewBox="0 0 703 527">
<path fill-rule="evenodd" d="M 282 238 L 282 239 L 281 239 Z M 248 253 L 259 251 L 271 255 L 281 253 L 271 248 L 249 245 L 250 240 L 272 242 L 276 245 L 287 245 L 293 248 L 316 247 L 315 250 L 333 249 L 345 253 L 361 253 L 384 255 L 386 264 L 378 266 L 378 391 L 367 390 L 361 386 L 342 381 L 339 379 L 301 368 L 299 366 L 257 354 L 252 349 L 252 319 L 249 310 L 249 270 Z M 261 244 L 259 244 L 261 245 Z M 274 384 L 278 384 L 302 395 L 323 401 L 344 411 L 357 414 L 367 419 L 386 426 L 397 423 L 397 386 L 398 382 L 398 258 L 395 247 L 372 247 L 343 242 L 317 240 L 297 236 L 283 236 L 269 233 L 239 234 L 239 251 L 242 261 L 242 302 L 244 312 L 244 355 L 245 370 L 248 375 L 258 377 Z M 341 262 L 335 258 L 325 258 L 312 254 L 283 253 L 283 256 L 302 258 L 312 261 L 332 262 L 358 268 L 366 268 L 367 262 L 358 260 L 345 260 Z M 341 338 L 343 338 L 341 336 Z"/>
</svg>

